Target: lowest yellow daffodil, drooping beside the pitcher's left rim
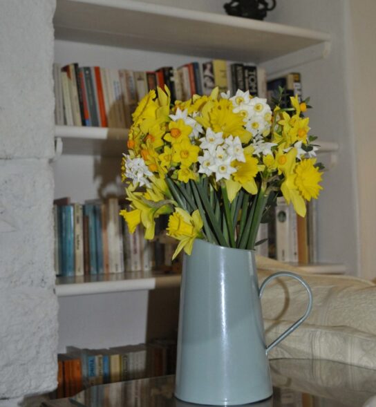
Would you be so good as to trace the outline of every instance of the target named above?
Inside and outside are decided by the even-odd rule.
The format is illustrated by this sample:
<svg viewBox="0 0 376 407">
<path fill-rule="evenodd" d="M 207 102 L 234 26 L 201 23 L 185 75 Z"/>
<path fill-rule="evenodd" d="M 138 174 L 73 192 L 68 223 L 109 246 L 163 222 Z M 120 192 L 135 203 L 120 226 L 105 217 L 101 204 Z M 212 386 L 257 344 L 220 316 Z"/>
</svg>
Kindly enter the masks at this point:
<svg viewBox="0 0 376 407">
<path fill-rule="evenodd" d="M 169 225 L 167 234 L 180 240 L 172 259 L 176 258 L 180 251 L 184 249 L 187 254 L 191 254 L 194 240 L 201 238 L 201 229 L 203 220 L 201 219 L 198 209 L 189 215 L 187 211 L 176 208 L 175 212 L 169 216 Z"/>
</svg>

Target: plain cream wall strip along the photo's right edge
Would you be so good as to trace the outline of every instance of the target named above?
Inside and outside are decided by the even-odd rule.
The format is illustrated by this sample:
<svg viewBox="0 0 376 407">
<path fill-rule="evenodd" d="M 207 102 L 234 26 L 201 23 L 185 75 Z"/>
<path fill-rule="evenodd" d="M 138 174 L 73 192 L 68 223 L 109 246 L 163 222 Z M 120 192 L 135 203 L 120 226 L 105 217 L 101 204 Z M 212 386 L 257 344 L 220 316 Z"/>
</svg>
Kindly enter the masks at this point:
<svg viewBox="0 0 376 407">
<path fill-rule="evenodd" d="M 347 3 L 347 74 L 357 157 L 361 276 L 376 278 L 376 2 Z"/>
</svg>

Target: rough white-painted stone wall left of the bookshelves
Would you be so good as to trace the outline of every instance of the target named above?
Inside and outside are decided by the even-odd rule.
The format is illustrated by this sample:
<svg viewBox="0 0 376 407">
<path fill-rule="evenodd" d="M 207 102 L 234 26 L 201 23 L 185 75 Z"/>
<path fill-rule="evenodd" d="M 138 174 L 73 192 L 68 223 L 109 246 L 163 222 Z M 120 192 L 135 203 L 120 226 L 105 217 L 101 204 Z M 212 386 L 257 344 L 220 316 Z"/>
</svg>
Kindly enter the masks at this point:
<svg viewBox="0 0 376 407">
<path fill-rule="evenodd" d="M 56 387 L 55 0 L 0 1 L 0 406 Z"/>
</svg>

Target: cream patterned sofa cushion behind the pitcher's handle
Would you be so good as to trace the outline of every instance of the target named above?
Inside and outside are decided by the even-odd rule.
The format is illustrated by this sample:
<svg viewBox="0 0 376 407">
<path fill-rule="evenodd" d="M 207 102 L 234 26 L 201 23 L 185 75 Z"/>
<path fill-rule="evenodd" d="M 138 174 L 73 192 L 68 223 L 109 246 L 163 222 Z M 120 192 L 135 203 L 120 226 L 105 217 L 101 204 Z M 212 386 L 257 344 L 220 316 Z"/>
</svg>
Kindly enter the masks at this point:
<svg viewBox="0 0 376 407">
<path fill-rule="evenodd" d="M 303 276 L 313 294 L 306 322 L 270 351 L 270 359 L 328 359 L 376 368 L 376 285 L 349 276 L 301 272 L 296 267 L 256 256 L 259 282 L 277 271 Z M 292 278 L 276 278 L 261 301 L 267 343 L 306 309 L 308 295 Z"/>
</svg>

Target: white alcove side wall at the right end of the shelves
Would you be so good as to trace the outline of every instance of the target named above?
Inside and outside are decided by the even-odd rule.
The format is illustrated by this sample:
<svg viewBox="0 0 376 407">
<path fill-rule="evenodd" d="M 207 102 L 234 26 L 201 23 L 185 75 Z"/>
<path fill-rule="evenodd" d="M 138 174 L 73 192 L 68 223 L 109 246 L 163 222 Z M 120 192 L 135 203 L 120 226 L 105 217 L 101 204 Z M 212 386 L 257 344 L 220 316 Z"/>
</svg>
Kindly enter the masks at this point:
<svg viewBox="0 0 376 407">
<path fill-rule="evenodd" d="M 311 133 L 321 140 L 339 143 L 338 164 L 324 175 L 324 189 L 318 202 L 319 260 L 344 263 L 348 274 L 356 276 L 360 274 L 359 199 L 351 125 L 353 111 L 348 104 L 346 15 L 346 1 L 343 0 L 283 0 L 277 1 L 276 9 L 267 19 L 323 30 L 332 37 L 328 58 L 295 69 L 302 75 L 303 96 L 311 97 Z"/>
</svg>

